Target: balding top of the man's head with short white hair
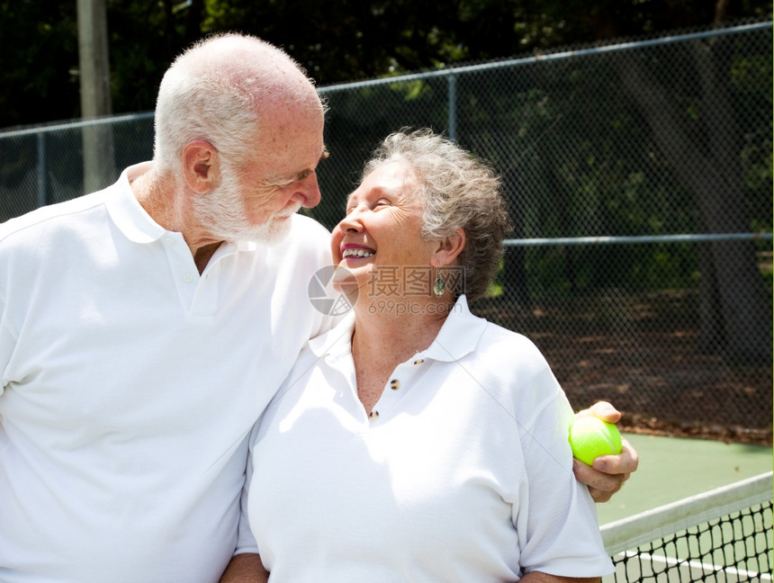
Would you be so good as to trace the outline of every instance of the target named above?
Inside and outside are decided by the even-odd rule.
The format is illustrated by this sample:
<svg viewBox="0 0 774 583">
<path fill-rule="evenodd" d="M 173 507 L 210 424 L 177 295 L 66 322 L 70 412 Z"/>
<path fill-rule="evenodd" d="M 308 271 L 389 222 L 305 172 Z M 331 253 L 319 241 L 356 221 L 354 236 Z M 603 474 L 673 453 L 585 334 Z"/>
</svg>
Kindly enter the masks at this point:
<svg viewBox="0 0 774 583">
<path fill-rule="evenodd" d="M 237 166 L 261 148 L 266 123 L 324 115 L 311 79 L 283 50 L 256 37 L 221 34 L 172 63 L 158 90 L 154 160 L 174 172 L 186 144 L 205 140 Z"/>
</svg>

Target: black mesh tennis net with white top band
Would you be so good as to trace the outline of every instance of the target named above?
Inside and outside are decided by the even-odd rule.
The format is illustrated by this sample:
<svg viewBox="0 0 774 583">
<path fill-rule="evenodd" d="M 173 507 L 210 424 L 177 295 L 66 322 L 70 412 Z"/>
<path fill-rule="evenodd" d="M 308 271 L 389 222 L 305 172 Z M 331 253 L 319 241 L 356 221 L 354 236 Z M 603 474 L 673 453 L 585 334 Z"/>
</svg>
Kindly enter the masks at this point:
<svg viewBox="0 0 774 583">
<path fill-rule="evenodd" d="M 602 526 L 603 583 L 771 581 L 772 473 Z"/>
</svg>

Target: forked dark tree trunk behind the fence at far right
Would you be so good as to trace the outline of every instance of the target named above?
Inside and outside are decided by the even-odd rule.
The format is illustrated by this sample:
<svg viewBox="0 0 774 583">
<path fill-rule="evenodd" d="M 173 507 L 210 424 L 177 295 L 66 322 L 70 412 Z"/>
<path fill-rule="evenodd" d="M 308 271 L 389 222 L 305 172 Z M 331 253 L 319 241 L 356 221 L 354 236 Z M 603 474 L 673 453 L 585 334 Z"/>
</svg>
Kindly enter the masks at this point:
<svg viewBox="0 0 774 583">
<path fill-rule="evenodd" d="M 728 91 L 727 72 L 716 53 L 718 44 L 695 41 L 694 57 L 701 97 L 698 120 L 688 121 L 671 92 L 648 73 L 642 60 L 628 55 L 614 58 L 626 92 L 635 99 L 653 137 L 680 181 L 693 193 L 699 217 L 709 233 L 750 230 L 744 208 L 744 184 L 734 139 L 737 128 Z M 730 48 L 728 48 L 730 54 Z M 717 65 L 718 60 L 721 65 Z M 720 78 L 718 78 L 720 77 Z M 712 269 L 702 265 L 702 332 L 716 336 L 723 323 L 725 351 L 746 362 L 769 361 L 771 327 L 768 293 L 758 269 L 755 249 L 748 241 L 710 244 Z M 719 300 L 720 313 L 707 308 Z M 710 318 L 710 319 L 707 319 Z M 707 347 L 716 341 L 703 337 Z"/>
</svg>

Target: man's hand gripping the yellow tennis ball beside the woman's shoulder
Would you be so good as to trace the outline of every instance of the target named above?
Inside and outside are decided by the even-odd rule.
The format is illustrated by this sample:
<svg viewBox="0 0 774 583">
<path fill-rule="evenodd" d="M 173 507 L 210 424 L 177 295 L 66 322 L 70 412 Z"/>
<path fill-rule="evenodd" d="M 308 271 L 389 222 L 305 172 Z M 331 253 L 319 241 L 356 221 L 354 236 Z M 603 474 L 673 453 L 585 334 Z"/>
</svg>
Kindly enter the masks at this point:
<svg viewBox="0 0 774 583">
<path fill-rule="evenodd" d="M 621 414 L 610 403 L 600 401 L 588 409 L 577 413 L 575 417 L 599 417 L 608 423 L 617 423 Z M 592 466 L 588 466 L 578 460 L 572 461 L 572 471 L 575 478 L 589 487 L 591 498 L 595 502 L 607 502 L 613 497 L 624 482 L 629 479 L 633 471 L 639 465 L 639 456 L 634 447 L 621 440 L 623 447 L 618 455 L 600 455 Z"/>
</svg>

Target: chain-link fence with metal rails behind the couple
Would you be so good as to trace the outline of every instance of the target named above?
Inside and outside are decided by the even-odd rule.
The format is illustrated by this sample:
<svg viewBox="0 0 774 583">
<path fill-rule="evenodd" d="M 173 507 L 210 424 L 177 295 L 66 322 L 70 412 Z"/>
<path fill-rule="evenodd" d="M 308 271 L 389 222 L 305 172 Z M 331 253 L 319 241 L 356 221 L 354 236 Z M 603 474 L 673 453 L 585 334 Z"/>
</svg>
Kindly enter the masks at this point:
<svg viewBox="0 0 774 583">
<path fill-rule="evenodd" d="M 504 177 L 474 310 L 532 338 L 573 405 L 771 443 L 771 22 L 321 87 L 327 227 L 374 147 L 432 127 Z M 0 220 L 152 155 L 152 113 L 0 133 Z M 85 186 L 88 185 L 88 186 Z"/>
</svg>

